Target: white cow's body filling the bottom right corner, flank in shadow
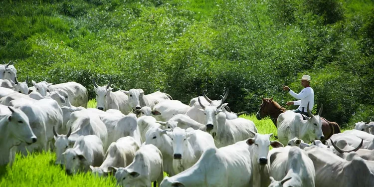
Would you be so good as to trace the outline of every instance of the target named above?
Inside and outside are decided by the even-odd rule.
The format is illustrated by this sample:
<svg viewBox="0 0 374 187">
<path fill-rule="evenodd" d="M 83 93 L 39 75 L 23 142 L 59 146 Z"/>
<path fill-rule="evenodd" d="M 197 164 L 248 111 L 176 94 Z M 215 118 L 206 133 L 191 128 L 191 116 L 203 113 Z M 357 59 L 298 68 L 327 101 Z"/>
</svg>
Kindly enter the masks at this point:
<svg viewBox="0 0 374 187">
<path fill-rule="evenodd" d="M 346 161 L 331 151 L 311 146 L 304 149 L 313 161 L 316 187 L 373 187 L 374 174 L 365 161 L 355 157 Z"/>
</svg>

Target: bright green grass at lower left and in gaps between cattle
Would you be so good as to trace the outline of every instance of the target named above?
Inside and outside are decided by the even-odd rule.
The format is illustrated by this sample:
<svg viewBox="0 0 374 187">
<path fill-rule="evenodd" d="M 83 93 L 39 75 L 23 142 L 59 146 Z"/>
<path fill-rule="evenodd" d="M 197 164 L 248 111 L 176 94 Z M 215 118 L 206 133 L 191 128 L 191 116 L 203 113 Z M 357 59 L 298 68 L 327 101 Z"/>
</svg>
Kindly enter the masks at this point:
<svg viewBox="0 0 374 187">
<path fill-rule="evenodd" d="M 95 107 L 90 100 L 88 107 Z M 244 116 L 252 120 L 261 134 L 274 133 L 277 130 L 270 119 L 258 121 L 255 115 Z M 274 138 L 272 138 L 274 139 Z M 67 176 L 65 171 L 54 165 L 55 153 L 35 153 L 27 157 L 17 155 L 12 168 L 0 168 L 0 187 L 115 187 L 113 177 L 97 178 L 88 174 Z"/>
</svg>

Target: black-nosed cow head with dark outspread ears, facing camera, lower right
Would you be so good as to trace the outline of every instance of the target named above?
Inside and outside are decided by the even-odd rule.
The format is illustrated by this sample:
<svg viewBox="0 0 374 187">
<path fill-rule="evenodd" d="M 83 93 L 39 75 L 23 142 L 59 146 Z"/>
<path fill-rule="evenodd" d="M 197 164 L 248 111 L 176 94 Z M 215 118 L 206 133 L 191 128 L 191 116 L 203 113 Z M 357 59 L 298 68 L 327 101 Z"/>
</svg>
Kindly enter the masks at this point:
<svg viewBox="0 0 374 187">
<path fill-rule="evenodd" d="M 273 133 L 271 134 L 258 134 L 255 132 L 251 132 L 254 134 L 254 138 L 250 138 L 247 140 L 247 144 L 252 147 L 252 153 L 253 158 L 257 161 L 260 165 L 266 165 L 267 164 L 267 155 L 269 153 L 269 147 L 273 148 L 279 148 L 283 147 L 283 144 L 281 144 L 278 141 L 270 141 L 270 137 L 273 136 Z"/>
</svg>

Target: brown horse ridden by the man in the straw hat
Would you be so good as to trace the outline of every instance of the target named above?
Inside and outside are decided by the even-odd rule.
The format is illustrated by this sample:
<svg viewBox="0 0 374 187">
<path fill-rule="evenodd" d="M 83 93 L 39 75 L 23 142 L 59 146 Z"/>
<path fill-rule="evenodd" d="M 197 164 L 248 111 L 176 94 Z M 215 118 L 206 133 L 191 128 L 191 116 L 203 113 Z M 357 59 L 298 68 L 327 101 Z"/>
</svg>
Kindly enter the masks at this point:
<svg viewBox="0 0 374 187">
<path fill-rule="evenodd" d="M 283 112 L 286 112 L 286 109 L 281 107 L 277 102 L 273 101 L 273 98 L 262 98 L 262 103 L 257 112 L 256 118 L 261 120 L 269 116 L 275 127 L 277 127 L 278 116 Z M 333 136 L 333 134 L 340 133 L 340 127 L 336 122 L 327 121 L 323 117 L 321 117 L 321 120 L 323 135 L 327 137 L 325 140 L 328 140 L 331 136 Z"/>
</svg>

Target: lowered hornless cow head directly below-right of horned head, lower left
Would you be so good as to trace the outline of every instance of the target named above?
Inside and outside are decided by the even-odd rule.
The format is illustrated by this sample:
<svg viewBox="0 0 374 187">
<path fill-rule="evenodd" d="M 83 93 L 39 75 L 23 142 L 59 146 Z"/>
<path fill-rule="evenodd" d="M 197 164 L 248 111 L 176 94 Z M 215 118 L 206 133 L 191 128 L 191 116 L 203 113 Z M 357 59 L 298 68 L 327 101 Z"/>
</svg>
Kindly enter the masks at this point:
<svg viewBox="0 0 374 187">
<path fill-rule="evenodd" d="M 63 154 L 66 174 L 72 175 L 81 170 L 81 165 L 86 161 L 83 153 L 73 148 L 67 149 Z"/>
</svg>

